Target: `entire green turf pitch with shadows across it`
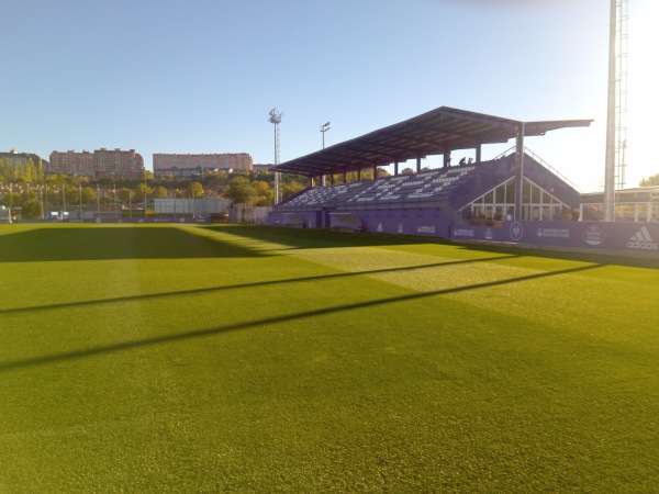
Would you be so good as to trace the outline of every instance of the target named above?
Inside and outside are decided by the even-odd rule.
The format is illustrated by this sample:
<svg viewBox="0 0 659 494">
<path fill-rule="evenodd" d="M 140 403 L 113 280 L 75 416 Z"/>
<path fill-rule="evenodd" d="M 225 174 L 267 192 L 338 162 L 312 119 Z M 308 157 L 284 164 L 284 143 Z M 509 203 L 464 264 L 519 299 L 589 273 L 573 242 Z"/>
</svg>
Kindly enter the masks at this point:
<svg viewBox="0 0 659 494">
<path fill-rule="evenodd" d="M 0 227 L 0 492 L 657 492 L 659 269 Z"/>
</svg>

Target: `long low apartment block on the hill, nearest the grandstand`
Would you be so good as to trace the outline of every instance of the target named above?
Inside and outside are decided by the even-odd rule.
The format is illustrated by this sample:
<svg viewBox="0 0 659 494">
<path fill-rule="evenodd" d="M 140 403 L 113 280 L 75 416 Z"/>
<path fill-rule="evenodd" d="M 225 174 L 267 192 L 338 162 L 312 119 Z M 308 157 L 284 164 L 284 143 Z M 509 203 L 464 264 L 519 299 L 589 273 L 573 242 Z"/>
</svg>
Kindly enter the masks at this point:
<svg viewBox="0 0 659 494">
<path fill-rule="evenodd" d="M 254 161 L 247 153 L 209 155 L 154 154 L 154 176 L 199 177 L 204 171 L 252 170 Z"/>
</svg>

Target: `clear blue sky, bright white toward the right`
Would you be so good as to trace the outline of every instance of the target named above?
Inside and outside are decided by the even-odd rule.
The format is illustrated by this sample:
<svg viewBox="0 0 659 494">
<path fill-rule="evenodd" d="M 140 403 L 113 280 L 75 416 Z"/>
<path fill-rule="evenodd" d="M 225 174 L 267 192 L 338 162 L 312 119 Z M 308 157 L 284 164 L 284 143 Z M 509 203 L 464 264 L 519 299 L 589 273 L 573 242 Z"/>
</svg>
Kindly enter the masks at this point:
<svg viewBox="0 0 659 494">
<path fill-rule="evenodd" d="M 659 172 L 656 3 L 629 0 L 629 186 Z M 584 191 L 604 176 L 607 0 L 0 0 L 0 150 L 267 164 L 272 108 L 286 161 L 327 121 L 332 145 L 449 105 L 595 119 L 526 144 Z"/>
</svg>

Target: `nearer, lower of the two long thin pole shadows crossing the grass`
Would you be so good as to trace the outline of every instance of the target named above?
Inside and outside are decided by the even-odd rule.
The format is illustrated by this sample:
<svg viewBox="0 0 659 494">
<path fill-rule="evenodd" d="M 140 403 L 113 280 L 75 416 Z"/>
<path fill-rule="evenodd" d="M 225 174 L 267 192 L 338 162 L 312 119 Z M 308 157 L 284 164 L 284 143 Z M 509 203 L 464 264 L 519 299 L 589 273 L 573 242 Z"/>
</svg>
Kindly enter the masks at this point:
<svg viewBox="0 0 659 494">
<path fill-rule="evenodd" d="M 456 287 L 456 288 L 451 288 L 451 289 L 436 290 L 436 291 L 432 291 L 432 292 L 412 293 L 412 294 L 407 294 L 407 295 L 377 299 L 377 300 L 367 301 L 367 302 L 357 302 L 354 304 L 335 305 L 335 306 L 330 306 L 330 307 L 315 308 L 312 311 L 302 311 L 302 312 L 298 312 L 294 314 L 284 314 L 284 315 L 275 316 L 275 317 L 265 317 L 261 319 L 247 321 L 244 323 L 227 324 L 225 326 L 219 326 L 219 327 L 214 327 L 214 328 L 197 329 L 197 330 L 187 332 L 187 333 L 177 333 L 175 335 L 166 335 L 166 336 L 159 336 L 159 337 L 155 337 L 155 338 L 145 338 L 145 339 L 135 340 L 135 341 L 124 341 L 124 343 L 119 343 L 119 344 L 114 344 L 114 345 L 86 348 L 86 349 L 81 349 L 81 350 L 46 355 L 46 356 L 33 357 L 33 358 L 21 359 L 21 360 L 13 360 L 13 361 L 9 361 L 9 362 L 0 363 L 0 372 L 7 372 L 7 371 L 15 370 L 15 369 L 24 369 L 24 368 L 30 368 L 30 367 L 35 367 L 35 366 L 43 366 L 43 364 L 48 364 L 48 363 L 56 363 L 56 362 L 75 360 L 75 359 L 114 353 L 114 352 L 119 352 L 119 351 L 145 348 L 145 347 L 149 347 L 149 346 L 154 346 L 154 345 L 170 344 L 170 343 L 182 341 L 182 340 L 188 340 L 188 339 L 192 339 L 192 338 L 216 336 L 216 335 L 221 335 L 224 333 L 231 333 L 231 332 L 236 332 L 236 330 L 244 330 L 244 329 L 256 328 L 256 327 L 260 328 L 266 325 L 288 323 L 288 322 L 299 321 L 299 319 L 304 319 L 304 318 L 310 318 L 310 317 L 319 317 L 319 316 L 330 315 L 333 313 L 338 313 L 338 312 L 344 312 L 344 311 L 358 311 L 358 310 L 378 307 L 381 305 L 387 305 L 387 304 L 392 304 L 392 303 L 424 300 L 424 299 L 429 299 L 429 297 L 438 296 L 438 295 L 447 295 L 450 293 L 460 293 L 460 292 L 466 292 L 466 291 L 470 291 L 470 290 L 487 289 L 487 288 L 492 288 L 492 287 L 502 287 L 502 285 L 506 285 L 510 283 L 521 283 L 524 281 L 538 280 L 538 279 L 543 279 L 543 278 L 550 278 L 550 277 L 556 277 L 556 276 L 561 276 L 561 274 L 572 274 L 572 273 L 577 273 L 577 272 L 597 269 L 600 267 L 601 267 L 601 265 L 582 266 L 582 267 L 578 267 L 578 268 L 563 269 L 563 270 L 559 270 L 559 271 L 549 271 L 549 272 L 543 272 L 543 273 L 536 273 L 536 274 L 528 274 L 528 276 L 524 276 L 524 277 L 510 278 L 510 279 L 505 279 L 505 280 L 490 281 L 487 283 L 476 283 L 476 284 L 470 284 L 470 285 L 465 285 L 465 287 Z"/>
</svg>

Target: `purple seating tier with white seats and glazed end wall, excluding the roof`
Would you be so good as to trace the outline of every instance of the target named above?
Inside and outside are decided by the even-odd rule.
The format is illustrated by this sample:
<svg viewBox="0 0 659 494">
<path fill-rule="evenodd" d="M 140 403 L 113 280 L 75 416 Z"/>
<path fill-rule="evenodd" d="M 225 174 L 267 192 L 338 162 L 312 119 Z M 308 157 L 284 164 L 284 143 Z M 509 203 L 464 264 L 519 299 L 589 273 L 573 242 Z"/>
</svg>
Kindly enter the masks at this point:
<svg viewBox="0 0 659 494">
<path fill-rule="evenodd" d="M 359 217 L 359 229 L 367 232 L 448 236 L 455 225 L 493 225 L 513 217 L 516 160 L 512 153 L 465 167 L 308 188 L 280 203 L 270 213 L 271 223 L 292 226 L 288 216 L 294 214 L 294 226 L 332 226 L 328 218 L 343 212 Z M 527 154 L 524 164 L 522 220 L 576 217 L 579 192 Z M 405 225 L 403 213 L 411 210 L 416 221 Z M 426 218 L 427 225 L 420 223 Z"/>
</svg>

